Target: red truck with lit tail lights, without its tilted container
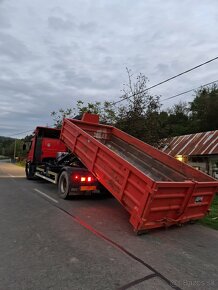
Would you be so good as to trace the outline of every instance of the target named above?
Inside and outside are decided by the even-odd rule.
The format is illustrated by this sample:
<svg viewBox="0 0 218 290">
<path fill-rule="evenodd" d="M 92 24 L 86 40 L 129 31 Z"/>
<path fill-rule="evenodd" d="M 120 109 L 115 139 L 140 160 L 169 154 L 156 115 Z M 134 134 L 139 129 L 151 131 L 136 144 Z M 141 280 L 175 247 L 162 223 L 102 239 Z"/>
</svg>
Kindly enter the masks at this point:
<svg viewBox="0 0 218 290">
<path fill-rule="evenodd" d="M 64 199 L 70 195 L 100 193 L 102 188 L 96 177 L 68 150 L 60 140 L 60 132 L 47 127 L 35 129 L 26 160 L 26 178 L 57 184 L 58 194 Z"/>
</svg>

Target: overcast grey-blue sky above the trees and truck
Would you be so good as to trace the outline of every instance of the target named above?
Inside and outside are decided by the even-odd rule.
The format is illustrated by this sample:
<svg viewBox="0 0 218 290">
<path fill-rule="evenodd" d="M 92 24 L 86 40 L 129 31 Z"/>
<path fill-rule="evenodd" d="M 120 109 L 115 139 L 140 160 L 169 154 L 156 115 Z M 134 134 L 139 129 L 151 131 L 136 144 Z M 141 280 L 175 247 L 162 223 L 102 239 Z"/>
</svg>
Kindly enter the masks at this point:
<svg viewBox="0 0 218 290">
<path fill-rule="evenodd" d="M 153 85 L 216 57 L 217 27 L 217 0 L 0 0 L 0 135 L 50 125 L 78 99 L 118 100 L 126 67 Z M 150 93 L 217 79 L 214 61 Z M 193 94 L 163 104 L 181 99 Z"/>
</svg>

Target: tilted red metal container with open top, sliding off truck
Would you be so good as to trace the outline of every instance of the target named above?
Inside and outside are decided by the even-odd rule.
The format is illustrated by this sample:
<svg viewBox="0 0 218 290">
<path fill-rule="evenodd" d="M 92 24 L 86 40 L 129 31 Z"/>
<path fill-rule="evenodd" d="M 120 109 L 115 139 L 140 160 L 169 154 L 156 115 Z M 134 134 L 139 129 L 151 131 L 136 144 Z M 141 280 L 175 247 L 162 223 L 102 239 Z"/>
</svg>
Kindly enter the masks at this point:
<svg viewBox="0 0 218 290">
<path fill-rule="evenodd" d="M 130 213 L 136 232 L 202 218 L 218 181 L 112 126 L 65 119 L 61 139 Z"/>
</svg>

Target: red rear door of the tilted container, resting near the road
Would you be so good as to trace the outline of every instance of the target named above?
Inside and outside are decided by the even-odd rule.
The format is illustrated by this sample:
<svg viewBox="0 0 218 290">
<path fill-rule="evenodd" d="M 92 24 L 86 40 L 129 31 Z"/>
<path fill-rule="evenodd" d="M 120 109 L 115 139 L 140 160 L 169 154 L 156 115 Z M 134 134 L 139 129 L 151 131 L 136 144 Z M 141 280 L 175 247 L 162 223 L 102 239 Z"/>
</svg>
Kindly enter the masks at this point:
<svg viewBox="0 0 218 290">
<path fill-rule="evenodd" d="M 139 229 L 148 229 L 202 218 L 218 184 L 209 182 L 157 183 L 145 206 Z"/>
</svg>

